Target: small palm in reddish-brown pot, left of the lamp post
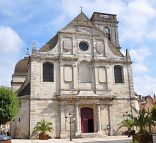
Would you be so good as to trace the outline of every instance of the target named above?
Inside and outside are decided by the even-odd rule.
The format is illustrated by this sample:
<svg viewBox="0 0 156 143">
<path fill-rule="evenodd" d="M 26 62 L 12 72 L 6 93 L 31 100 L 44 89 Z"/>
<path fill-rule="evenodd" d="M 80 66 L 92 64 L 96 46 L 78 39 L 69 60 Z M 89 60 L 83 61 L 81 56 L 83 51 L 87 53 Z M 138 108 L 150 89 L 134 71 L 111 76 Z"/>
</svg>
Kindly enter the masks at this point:
<svg viewBox="0 0 156 143">
<path fill-rule="evenodd" d="M 39 133 L 40 140 L 48 140 L 49 135 L 47 132 L 52 132 L 52 123 L 45 121 L 42 119 L 41 121 L 37 122 L 36 126 L 34 127 L 34 132 Z"/>
</svg>

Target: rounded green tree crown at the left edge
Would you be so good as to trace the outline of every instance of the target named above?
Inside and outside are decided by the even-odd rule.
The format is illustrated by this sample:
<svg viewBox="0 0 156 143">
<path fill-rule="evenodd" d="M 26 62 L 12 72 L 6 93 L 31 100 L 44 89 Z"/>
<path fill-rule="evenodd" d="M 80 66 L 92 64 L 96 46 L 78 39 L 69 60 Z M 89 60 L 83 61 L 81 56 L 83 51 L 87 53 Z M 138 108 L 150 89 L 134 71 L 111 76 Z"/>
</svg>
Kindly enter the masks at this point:
<svg viewBox="0 0 156 143">
<path fill-rule="evenodd" d="M 19 111 L 19 100 L 14 91 L 8 87 L 0 87 L 0 124 L 14 119 Z"/>
</svg>

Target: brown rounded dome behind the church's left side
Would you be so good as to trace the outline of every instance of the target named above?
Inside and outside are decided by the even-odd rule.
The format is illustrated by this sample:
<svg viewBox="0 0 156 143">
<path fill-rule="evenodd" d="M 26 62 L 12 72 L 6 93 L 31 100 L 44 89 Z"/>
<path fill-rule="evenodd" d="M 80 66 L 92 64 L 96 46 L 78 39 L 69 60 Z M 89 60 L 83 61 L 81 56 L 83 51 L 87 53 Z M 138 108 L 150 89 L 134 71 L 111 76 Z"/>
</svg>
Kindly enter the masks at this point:
<svg viewBox="0 0 156 143">
<path fill-rule="evenodd" d="M 18 61 L 14 69 L 14 75 L 26 75 L 28 73 L 28 61 L 28 57 Z"/>
</svg>

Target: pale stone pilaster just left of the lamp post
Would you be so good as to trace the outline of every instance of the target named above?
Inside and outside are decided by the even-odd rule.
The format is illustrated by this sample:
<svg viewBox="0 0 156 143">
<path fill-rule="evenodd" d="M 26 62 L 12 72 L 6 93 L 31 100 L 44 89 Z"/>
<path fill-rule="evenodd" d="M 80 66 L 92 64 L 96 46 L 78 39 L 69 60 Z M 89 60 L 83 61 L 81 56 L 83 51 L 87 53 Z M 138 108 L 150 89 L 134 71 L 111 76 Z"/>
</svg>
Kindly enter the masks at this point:
<svg viewBox="0 0 156 143">
<path fill-rule="evenodd" d="M 64 106 L 64 102 L 61 101 L 61 105 L 60 105 L 60 112 L 61 112 L 61 134 L 60 134 L 60 138 L 67 138 L 67 132 L 66 132 L 66 122 L 65 122 L 65 106 Z"/>
</svg>

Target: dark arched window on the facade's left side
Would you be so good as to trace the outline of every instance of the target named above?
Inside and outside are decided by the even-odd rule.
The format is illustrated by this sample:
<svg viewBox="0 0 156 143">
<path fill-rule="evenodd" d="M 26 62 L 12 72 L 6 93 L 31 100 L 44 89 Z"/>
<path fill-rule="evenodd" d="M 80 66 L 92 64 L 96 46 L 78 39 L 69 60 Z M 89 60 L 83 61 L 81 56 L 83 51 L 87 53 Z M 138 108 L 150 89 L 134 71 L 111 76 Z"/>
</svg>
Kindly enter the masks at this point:
<svg viewBox="0 0 156 143">
<path fill-rule="evenodd" d="M 54 82 L 54 64 L 50 62 L 43 63 L 43 81 Z"/>
</svg>

